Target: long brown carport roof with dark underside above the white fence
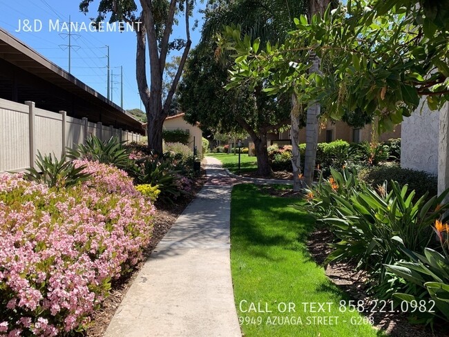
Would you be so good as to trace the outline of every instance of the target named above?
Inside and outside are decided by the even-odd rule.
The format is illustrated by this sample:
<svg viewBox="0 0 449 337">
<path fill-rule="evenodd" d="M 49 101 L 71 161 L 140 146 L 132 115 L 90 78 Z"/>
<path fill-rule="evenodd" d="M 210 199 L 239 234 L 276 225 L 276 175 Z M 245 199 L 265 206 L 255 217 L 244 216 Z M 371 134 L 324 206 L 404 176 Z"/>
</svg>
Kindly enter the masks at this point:
<svg viewBox="0 0 449 337">
<path fill-rule="evenodd" d="M 135 117 L 2 28 L 0 61 L 1 98 L 10 99 L 11 87 L 19 86 L 19 103 L 30 100 L 39 108 L 66 110 L 73 117 L 142 133 L 142 124 Z M 16 79 L 19 85 L 14 83 Z"/>
</svg>

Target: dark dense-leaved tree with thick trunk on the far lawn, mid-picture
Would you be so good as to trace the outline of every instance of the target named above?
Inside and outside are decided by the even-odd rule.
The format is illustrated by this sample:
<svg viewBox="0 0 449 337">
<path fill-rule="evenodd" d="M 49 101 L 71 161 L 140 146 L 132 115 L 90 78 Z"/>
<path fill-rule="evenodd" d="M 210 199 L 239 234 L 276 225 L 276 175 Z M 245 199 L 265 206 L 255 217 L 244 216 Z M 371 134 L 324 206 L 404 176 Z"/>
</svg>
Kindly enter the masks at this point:
<svg viewBox="0 0 449 337">
<path fill-rule="evenodd" d="M 225 90 L 231 59 L 217 61 L 215 52 L 214 41 L 202 41 L 191 52 L 179 88 L 185 118 L 220 133 L 248 133 L 256 148 L 258 175 L 269 175 L 267 135 L 289 123 L 289 99 L 270 97 L 262 87 Z"/>
</svg>

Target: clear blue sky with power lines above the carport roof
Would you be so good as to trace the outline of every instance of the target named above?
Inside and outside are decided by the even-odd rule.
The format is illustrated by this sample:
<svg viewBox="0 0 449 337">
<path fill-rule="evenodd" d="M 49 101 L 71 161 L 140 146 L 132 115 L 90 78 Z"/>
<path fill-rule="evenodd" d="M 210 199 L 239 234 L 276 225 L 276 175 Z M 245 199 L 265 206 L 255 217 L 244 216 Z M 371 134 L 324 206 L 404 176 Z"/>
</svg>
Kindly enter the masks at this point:
<svg viewBox="0 0 449 337">
<path fill-rule="evenodd" d="M 199 1 L 198 1 L 199 2 Z M 28 46 L 34 48 L 44 57 L 50 59 L 61 68 L 68 70 L 68 44 L 65 32 L 57 32 L 51 27 L 49 22 L 55 23 L 67 21 L 70 19 L 80 25 L 90 22 L 90 17 L 94 17 L 99 0 L 94 0 L 90 5 L 90 12 L 84 15 L 79 12 L 79 1 L 77 0 L 0 0 L 1 16 L 0 27 L 8 30 L 12 35 L 23 41 Z M 198 8 L 203 8 L 204 3 L 198 3 L 195 8 L 194 17 L 190 19 L 190 25 L 193 26 L 195 19 L 200 20 L 199 27 L 191 30 L 191 39 L 193 46 L 198 44 L 200 39 L 200 27 L 202 26 L 202 17 L 198 13 Z M 37 24 L 36 30 L 31 26 L 30 31 L 26 32 L 23 28 L 23 20 Z M 36 20 L 36 21 L 35 21 Z M 39 25 L 42 23 L 40 31 Z M 173 38 L 185 38 L 184 19 L 180 20 L 180 26 L 173 30 Z M 30 27 L 30 26 L 28 26 Z M 51 31 L 50 31 L 51 30 Z M 106 79 L 107 79 L 107 58 L 106 48 L 110 48 L 110 66 L 113 73 L 113 92 L 112 98 L 115 104 L 120 105 L 120 66 L 123 66 L 123 92 L 124 108 L 140 108 L 140 97 L 137 93 L 137 84 L 135 81 L 135 33 L 134 32 L 90 32 L 80 31 L 72 38 L 72 61 L 71 73 L 84 81 L 88 86 L 94 88 L 106 97 Z M 181 52 L 171 52 L 171 55 L 179 55 Z M 148 54 L 147 54 L 148 55 Z M 148 64 L 148 59 L 147 59 Z"/>
</svg>

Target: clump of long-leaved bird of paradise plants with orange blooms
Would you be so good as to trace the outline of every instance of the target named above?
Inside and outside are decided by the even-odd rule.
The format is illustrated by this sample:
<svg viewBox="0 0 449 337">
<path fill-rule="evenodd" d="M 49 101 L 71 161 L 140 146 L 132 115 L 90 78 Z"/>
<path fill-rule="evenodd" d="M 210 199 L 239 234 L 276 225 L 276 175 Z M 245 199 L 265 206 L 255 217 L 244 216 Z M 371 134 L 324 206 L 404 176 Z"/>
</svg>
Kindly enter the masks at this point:
<svg viewBox="0 0 449 337">
<path fill-rule="evenodd" d="M 368 271 L 371 293 L 394 300 L 416 322 L 448 320 L 449 227 L 441 219 L 449 209 L 443 202 L 449 191 L 415 198 L 414 191 L 398 182 L 373 189 L 356 171 L 331 168 L 331 173 L 309 190 L 306 207 L 335 235 L 327 262 L 352 262 Z"/>
</svg>

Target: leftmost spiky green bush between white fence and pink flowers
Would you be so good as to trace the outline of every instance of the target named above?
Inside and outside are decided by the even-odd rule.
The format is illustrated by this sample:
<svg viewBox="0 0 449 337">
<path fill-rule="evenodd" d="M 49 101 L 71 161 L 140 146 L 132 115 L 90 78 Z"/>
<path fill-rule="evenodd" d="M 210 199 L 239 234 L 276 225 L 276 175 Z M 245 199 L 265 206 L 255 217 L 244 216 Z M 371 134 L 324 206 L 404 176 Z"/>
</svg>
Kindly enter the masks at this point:
<svg viewBox="0 0 449 337">
<path fill-rule="evenodd" d="M 46 184 L 48 187 L 69 187 L 78 184 L 79 182 L 86 182 L 90 175 L 83 173 L 83 167 L 75 167 L 72 162 L 66 161 L 66 156 L 63 155 L 61 160 L 52 155 L 45 155 L 44 157 L 39 152 L 37 154 L 36 166 L 39 168 L 29 168 L 26 173 L 26 179 L 37 182 L 39 184 Z"/>
</svg>

